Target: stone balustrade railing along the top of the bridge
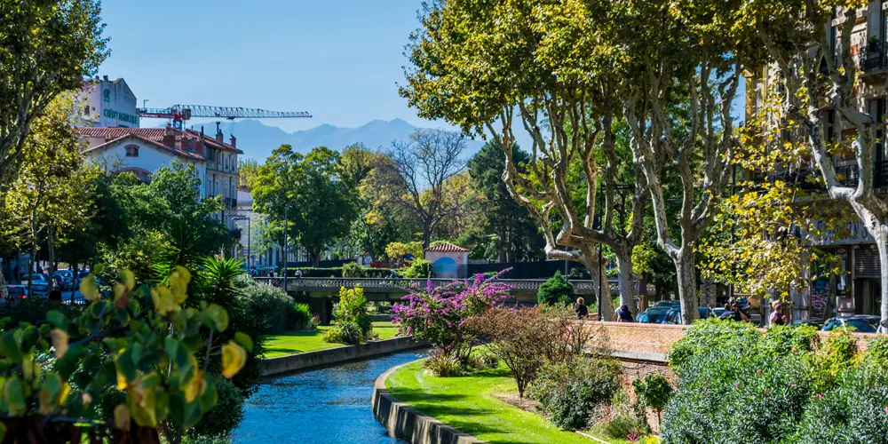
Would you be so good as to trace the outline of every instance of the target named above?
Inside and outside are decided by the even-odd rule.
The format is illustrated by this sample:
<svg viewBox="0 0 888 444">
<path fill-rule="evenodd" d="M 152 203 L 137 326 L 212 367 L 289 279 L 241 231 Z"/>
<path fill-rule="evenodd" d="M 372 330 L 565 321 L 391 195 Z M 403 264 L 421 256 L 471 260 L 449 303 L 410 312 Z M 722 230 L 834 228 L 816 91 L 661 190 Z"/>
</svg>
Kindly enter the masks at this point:
<svg viewBox="0 0 888 444">
<path fill-rule="evenodd" d="M 283 285 L 282 277 L 257 277 L 254 278 L 256 281 L 262 281 L 266 283 L 270 283 L 272 285 L 281 286 Z M 448 285 L 450 282 L 453 282 L 453 279 L 398 279 L 398 278 L 297 278 L 297 277 L 288 277 L 287 278 L 287 286 L 289 287 L 288 291 L 335 291 L 342 287 L 346 289 L 353 289 L 354 287 L 360 286 L 362 289 L 369 290 L 384 290 L 384 291 L 397 291 L 400 289 L 410 289 L 411 287 L 418 286 L 419 288 L 425 288 L 429 282 L 431 282 L 432 287 L 438 288 L 444 285 Z M 499 279 L 498 282 L 503 282 L 511 286 L 512 293 L 535 293 L 539 291 L 540 285 L 543 284 L 546 280 L 544 279 Z M 598 291 L 598 287 L 596 286 L 594 281 L 570 281 L 574 284 L 574 289 L 576 294 L 579 295 L 593 295 Z"/>
</svg>

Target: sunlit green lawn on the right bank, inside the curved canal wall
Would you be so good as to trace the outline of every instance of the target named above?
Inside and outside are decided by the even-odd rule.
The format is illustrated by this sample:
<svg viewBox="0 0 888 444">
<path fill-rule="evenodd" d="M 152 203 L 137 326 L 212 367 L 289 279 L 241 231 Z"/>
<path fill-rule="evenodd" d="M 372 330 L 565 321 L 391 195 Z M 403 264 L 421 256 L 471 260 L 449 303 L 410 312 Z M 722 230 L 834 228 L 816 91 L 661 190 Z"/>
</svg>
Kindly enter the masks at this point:
<svg viewBox="0 0 888 444">
<path fill-rule="evenodd" d="M 426 415 L 490 444 L 594 442 L 497 399 L 494 393 L 517 392 L 509 370 L 503 367 L 468 377 L 431 377 L 424 374 L 422 361 L 417 361 L 396 370 L 385 386 Z"/>
</svg>

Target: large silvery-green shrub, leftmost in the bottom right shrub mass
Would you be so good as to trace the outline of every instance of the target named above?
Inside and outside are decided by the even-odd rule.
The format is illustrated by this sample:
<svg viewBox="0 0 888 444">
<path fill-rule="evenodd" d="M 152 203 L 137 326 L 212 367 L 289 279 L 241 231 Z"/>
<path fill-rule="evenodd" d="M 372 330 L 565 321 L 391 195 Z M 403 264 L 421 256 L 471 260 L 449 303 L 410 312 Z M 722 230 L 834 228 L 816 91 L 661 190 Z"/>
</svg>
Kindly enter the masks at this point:
<svg viewBox="0 0 888 444">
<path fill-rule="evenodd" d="M 780 354 L 778 332 L 766 337 L 741 322 L 700 321 L 670 353 L 678 376 L 662 417 L 663 442 L 781 442 L 810 397 L 803 350 Z M 787 341 L 793 342 L 793 341 Z"/>
</svg>

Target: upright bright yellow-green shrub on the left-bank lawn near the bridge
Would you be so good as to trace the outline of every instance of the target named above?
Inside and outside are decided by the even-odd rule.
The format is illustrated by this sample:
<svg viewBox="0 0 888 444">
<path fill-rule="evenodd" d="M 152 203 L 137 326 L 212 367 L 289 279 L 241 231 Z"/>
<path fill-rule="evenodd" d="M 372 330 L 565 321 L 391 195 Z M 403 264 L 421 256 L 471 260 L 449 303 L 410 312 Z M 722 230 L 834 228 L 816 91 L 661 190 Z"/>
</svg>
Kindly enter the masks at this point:
<svg viewBox="0 0 888 444">
<path fill-rule="evenodd" d="M 339 302 L 333 305 L 333 326 L 324 335 L 324 342 L 361 345 L 373 329 L 364 289 L 339 289 Z"/>
</svg>

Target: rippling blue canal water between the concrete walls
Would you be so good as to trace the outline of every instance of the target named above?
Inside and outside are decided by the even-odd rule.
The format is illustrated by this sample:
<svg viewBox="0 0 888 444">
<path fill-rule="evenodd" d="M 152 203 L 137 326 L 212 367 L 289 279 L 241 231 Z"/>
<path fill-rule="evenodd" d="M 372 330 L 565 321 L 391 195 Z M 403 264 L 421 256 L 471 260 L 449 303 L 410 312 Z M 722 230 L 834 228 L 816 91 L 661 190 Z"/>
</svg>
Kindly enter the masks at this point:
<svg viewBox="0 0 888 444">
<path fill-rule="evenodd" d="M 403 443 L 386 434 L 370 409 L 373 383 L 421 353 L 394 353 L 368 361 L 275 377 L 247 400 L 234 443 Z"/>
</svg>

